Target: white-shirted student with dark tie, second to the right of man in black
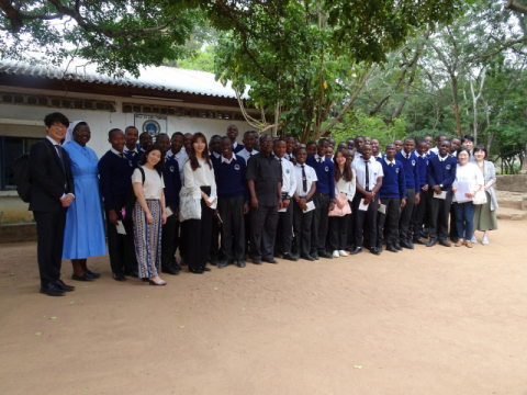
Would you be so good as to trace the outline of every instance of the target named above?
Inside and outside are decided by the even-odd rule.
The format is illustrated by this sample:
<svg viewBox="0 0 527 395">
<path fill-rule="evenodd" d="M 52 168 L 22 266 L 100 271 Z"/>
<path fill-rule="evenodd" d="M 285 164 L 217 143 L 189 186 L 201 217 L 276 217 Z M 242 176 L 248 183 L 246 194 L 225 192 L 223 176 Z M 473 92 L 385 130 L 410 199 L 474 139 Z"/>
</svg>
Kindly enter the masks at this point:
<svg viewBox="0 0 527 395">
<path fill-rule="evenodd" d="M 307 159 L 307 150 L 305 148 L 296 148 L 294 158 L 296 160 L 294 166 L 296 190 L 293 194 L 294 253 L 302 259 L 314 261 L 315 259 L 310 255 L 313 211 L 305 212 L 305 210 L 307 203 L 313 201 L 313 195 L 316 191 L 316 171 L 311 166 L 305 165 Z"/>
</svg>

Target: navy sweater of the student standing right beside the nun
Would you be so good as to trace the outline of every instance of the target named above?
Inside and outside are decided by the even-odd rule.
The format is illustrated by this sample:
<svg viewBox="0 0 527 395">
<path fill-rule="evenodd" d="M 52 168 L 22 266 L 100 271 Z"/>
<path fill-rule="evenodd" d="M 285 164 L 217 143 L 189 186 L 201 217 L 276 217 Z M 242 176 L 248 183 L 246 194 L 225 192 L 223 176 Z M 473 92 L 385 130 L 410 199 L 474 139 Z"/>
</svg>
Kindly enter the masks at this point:
<svg viewBox="0 0 527 395">
<path fill-rule="evenodd" d="M 122 159 L 111 150 L 99 160 L 99 187 L 106 211 L 124 206 L 126 194 L 132 187 L 134 169 L 132 159 Z"/>
</svg>

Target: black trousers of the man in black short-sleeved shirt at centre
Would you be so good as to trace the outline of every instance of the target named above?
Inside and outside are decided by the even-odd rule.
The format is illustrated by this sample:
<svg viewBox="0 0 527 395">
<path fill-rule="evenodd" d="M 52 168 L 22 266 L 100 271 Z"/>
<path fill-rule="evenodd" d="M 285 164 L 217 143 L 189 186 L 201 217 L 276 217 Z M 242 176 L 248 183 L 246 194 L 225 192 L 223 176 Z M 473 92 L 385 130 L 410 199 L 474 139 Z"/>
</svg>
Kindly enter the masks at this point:
<svg viewBox="0 0 527 395">
<path fill-rule="evenodd" d="M 272 259 L 277 225 L 278 206 L 250 208 L 250 258 Z"/>
</svg>

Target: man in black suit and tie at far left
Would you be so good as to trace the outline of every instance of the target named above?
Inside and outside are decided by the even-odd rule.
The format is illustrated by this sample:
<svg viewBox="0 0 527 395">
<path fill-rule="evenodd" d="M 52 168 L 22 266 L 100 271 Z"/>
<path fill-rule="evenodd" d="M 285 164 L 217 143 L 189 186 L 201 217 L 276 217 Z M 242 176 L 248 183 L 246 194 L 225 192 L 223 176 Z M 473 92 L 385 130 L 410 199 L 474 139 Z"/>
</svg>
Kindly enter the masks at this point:
<svg viewBox="0 0 527 395">
<path fill-rule="evenodd" d="M 66 291 L 75 290 L 60 280 L 66 212 L 75 199 L 69 156 L 60 147 L 69 121 L 60 113 L 52 113 L 46 115 L 44 124 L 46 138 L 35 143 L 30 151 L 30 211 L 36 222 L 41 293 L 64 296 Z"/>
</svg>

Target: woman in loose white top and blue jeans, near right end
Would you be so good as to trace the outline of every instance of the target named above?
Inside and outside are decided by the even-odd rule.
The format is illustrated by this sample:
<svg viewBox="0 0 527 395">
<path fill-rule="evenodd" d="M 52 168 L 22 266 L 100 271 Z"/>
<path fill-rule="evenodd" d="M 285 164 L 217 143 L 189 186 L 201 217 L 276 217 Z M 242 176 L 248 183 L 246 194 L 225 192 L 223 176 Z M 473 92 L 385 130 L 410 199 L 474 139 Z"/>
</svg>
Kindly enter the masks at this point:
<svg viewBox="0 0 527 395">
<path fill-rule="evenodd" d="M 467 246 L 472 248 L 470 239 L 472 237 L 472 229 L 474 227 L 474 212 L 475 205 L 472 203 L 472 198 L 475 193 L 483 188 L 483 174 L 478 166 L 469 163 L 470 151 L 466 147 L 461 147 L 458 150 L 459 163 L 456 168 L 456 181 L 452 187 L 455 193 L 453 207 L 456 210 L 456 226 L 458 228 L 459 241 L 456 247 Z M 463 196 L 457 196 L 458 190 L 462 187 L 467 187 L 469 192 L 466 192 Z"/>
</svg>

